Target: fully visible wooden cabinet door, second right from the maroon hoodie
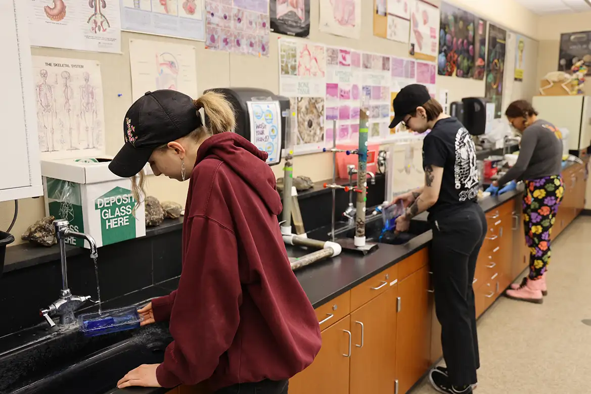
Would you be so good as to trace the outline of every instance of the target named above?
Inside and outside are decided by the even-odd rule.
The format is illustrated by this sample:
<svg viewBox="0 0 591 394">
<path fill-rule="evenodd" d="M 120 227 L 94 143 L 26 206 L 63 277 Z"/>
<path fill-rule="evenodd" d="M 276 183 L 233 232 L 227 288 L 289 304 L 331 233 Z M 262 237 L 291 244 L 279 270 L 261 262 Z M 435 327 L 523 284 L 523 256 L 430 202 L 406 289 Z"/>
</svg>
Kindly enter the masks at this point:
<svg viewBox="0 0 591 394">
<path fill-rule="evenodd" d="M 350 394 L 394 394 L 397 296 L 398 286 L 391 286 L 351 313 Z"/>
</svg>

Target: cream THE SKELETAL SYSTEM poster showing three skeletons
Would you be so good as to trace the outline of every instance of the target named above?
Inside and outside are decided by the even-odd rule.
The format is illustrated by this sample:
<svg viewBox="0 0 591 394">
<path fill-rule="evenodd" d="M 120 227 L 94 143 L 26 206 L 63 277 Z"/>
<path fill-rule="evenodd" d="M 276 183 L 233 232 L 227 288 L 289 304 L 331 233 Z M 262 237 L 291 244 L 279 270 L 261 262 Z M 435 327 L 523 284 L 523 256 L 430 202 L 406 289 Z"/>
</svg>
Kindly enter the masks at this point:
<svg viewBox="0 0 591 394">
<path fill-rule="evenodd" d="M 99 62 L 33 56 L 33 81 L 41 152 L 54 158 L 104 152 Z"/>
</svg>

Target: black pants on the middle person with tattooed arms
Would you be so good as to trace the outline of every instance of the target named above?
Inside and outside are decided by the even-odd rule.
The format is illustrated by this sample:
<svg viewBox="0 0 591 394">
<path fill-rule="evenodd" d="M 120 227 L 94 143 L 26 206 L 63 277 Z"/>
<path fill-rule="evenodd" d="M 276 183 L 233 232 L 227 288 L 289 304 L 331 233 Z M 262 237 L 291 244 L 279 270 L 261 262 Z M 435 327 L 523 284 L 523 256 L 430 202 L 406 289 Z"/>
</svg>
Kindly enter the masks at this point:
<svg viewBox="0 0 591 394">
<path fill-rule="evenodd" d="M 450 383 L 473 385 L 480 367 L 472 281 L 486 235 L 486 217 L 477 204 L 431 221 L 431 271 L 441 347 Z"/>
</svg>

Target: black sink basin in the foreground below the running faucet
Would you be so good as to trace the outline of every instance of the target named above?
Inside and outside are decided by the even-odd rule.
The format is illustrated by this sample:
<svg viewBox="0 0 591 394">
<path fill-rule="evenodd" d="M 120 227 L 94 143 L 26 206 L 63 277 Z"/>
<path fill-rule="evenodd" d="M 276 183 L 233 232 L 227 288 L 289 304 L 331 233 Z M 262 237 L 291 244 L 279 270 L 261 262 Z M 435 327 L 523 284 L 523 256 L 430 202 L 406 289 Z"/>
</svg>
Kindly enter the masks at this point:
<svg viewBox="0 0 591 394">
<path fill-rule="evenodd" d="M 0 354 L 0 393 L 104 394 L 131 369 L 161 363 L 165 325 L 85 338 L 76 329 Z"/>
</svg>

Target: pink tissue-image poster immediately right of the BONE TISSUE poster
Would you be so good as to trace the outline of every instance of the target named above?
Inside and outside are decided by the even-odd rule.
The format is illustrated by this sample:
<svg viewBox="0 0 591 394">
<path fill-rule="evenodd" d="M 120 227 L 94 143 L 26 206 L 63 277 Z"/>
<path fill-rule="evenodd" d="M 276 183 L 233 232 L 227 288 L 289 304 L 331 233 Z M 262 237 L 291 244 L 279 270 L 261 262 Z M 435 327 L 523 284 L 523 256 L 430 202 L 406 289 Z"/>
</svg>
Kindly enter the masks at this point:
<svg viewBox="0 0 591 394">
<path fill-rule="evenodd" d="M 359 138 L 361 56 L 349 48 L 326 48 L 327 145 L 332 144 L 333 133 L 337 142 Z"/>
</svg>

